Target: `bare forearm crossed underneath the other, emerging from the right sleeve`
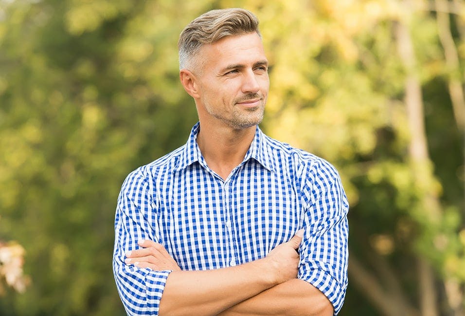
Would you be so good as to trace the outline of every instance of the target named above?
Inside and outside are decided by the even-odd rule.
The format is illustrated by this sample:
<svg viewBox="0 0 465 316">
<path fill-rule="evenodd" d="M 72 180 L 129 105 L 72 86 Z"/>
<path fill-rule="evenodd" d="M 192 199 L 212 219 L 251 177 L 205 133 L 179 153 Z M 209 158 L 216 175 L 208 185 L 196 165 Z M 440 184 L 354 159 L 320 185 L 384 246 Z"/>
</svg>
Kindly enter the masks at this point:
<svg viewBox="0 0 465 316">
<path fill-rule="evenodd" d="M 330 301 L 315 287 L 292 279 L 244 300 L 218 316 L 332 316 Z"/>
</svg>

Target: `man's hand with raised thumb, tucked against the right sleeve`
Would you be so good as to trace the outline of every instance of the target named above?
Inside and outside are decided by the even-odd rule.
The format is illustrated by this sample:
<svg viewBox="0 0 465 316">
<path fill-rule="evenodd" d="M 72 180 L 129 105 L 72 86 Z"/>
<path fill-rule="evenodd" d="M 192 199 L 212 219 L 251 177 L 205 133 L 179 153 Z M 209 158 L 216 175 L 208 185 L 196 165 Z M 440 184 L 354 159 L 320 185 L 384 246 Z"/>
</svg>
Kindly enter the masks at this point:
<svg viewBox="0 0 465 316">
<path fill-rule="evenodd" d="M 278 245 L 263 259 L 268 261 L 267 264 L 274 271 L 276 284 L 297 278 L 300 256 L 296 250 L 302 242 L 303 235 L 304 230 L 299 230 L 288 242 Z"/>
</svg>

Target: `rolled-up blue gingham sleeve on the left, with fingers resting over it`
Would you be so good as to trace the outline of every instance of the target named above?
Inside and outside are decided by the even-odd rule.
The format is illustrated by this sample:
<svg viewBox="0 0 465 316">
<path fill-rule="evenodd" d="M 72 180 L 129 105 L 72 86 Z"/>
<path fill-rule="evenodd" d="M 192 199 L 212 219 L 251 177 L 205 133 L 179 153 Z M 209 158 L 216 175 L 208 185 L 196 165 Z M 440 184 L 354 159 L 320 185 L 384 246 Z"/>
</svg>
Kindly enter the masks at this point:
<svg viewBox="0 0 465 316">
<path fill-rule="evenodd" d="M 127 251 L 139 249 L 138 240 L 159 241 L 157 202 L 151 182 L 141 169 L 130 173 L 118 197 L 115 216 L 113 274 L 127 315 L 158 315 L 166 279 L 171 271 L 153 271 L 125 263 Z"/>
</svg>

